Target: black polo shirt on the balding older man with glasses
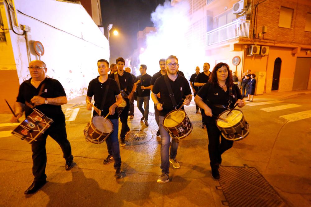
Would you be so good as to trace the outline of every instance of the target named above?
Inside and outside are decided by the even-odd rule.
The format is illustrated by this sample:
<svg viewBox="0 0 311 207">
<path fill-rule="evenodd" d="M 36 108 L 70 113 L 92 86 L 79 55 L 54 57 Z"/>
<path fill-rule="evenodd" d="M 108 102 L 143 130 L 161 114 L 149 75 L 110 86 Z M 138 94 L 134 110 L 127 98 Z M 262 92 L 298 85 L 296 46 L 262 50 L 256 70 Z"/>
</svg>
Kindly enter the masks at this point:
<svg viewBox="0 0 311 207">
<path fill-rule="evenodd" d="M 38 96 L 38 93 L 40 91 L 40 88 L 42 84 L 44 84 L 44 88 L 41 94 L 41 97 L 44 98 L 56 98 L 60 96 L 66 96 L 65 90 L 61 83 L 59 83 L 58 80 L 52 79 L 52 78 L 45 78 L 39 85 L 38 88 L 35 88 L 31 83 L 32 78 L 29 80 L 24 81 L 18 92 L 18 96 L 16 98 L 17 102 L 25 104 L 27 101 L 31 104 L 30 100 L 34 96 Z M 47 117 L 53 119 L 55 123 L 57 122 L 64 122 L 65 121 L 65 115 L 62 111 L 61 106 L 51 105 L 51 104 L 42 104 L 39 106 L 36 106 L 36 109 L 44 113 Z M 25 105 L 25 115 L 26 117 L 30 115 L 33 112 L 33 110 Z"/>
</svg>

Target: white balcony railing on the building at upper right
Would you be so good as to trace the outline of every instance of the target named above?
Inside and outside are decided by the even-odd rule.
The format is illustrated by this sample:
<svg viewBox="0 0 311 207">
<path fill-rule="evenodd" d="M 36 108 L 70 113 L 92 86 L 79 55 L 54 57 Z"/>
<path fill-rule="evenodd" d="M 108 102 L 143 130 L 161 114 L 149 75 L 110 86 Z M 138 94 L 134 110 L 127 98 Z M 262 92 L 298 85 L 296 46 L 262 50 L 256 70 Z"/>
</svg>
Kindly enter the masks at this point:
<svg viewBox="0 0 311 207">
<path fill-rule="evenodd" d="M 206 46 L 249 35 L 249 20 L 236 20 L 206 33 Z"/>
</svg>

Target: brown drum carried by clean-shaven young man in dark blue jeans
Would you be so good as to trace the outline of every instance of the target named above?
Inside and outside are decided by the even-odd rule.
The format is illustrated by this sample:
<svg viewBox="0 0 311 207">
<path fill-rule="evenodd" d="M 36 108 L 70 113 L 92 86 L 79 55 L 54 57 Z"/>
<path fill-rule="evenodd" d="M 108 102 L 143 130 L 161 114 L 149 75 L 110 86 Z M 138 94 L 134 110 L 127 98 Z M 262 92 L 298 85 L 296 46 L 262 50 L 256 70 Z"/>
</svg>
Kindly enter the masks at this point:
<svg viewBox="0 0 311 207">
<path fill-rule="evenodd" d="M 104 142 L 109 135 L 114 131 L 114 125 L 109 119 L 102 116 L 94 116 L 91 122 L 84 129 L 84 136 L 87 141 L 94 144 Z"/>
</svg>

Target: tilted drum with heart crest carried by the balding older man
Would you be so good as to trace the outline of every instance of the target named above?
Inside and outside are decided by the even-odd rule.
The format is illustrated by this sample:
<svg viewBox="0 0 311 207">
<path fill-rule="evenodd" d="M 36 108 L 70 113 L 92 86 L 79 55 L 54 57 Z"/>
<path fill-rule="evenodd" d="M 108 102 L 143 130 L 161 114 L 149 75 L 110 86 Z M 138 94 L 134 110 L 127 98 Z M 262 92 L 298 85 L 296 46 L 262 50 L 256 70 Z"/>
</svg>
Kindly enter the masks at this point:
<svg viewBox="0 0 311 207">
<path fill-rule="evenodd" d="M 45 116 L 38 109 L 34 109 L 34 111 L 12 131 L 12 134 L 32 144 L 40 138 L 52 123 L 52 119 Z"/>
</svg>

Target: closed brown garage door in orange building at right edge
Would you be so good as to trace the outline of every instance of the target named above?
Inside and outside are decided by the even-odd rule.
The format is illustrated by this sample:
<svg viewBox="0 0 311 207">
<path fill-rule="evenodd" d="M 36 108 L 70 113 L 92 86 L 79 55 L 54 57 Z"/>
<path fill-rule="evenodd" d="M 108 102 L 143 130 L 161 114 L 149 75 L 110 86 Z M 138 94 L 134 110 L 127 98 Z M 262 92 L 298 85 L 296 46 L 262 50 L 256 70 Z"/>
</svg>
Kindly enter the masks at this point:
<svg viewBox="0 0 311 207">
<path fill-rule="evenodd" d="M 297 57 L 293 90 L 308 89 L 310 67 L 311 67 L 310 57 Z"/>
</svg>

